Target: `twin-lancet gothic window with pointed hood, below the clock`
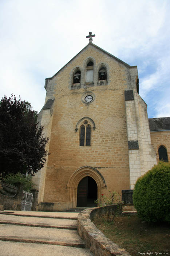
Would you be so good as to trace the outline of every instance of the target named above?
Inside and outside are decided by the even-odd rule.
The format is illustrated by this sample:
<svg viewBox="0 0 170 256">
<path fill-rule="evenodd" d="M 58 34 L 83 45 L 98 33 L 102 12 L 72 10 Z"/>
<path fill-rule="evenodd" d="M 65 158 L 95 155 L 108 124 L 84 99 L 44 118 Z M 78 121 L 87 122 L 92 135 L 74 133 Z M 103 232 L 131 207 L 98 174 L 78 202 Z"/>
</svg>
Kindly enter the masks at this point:
<svg viewBox="0 0 170 256">
<path fill-rule="evenodd" d="M 79 146 L 91 146 L 91 126 L 87 120 L 80 126 Z"/>
</svg>

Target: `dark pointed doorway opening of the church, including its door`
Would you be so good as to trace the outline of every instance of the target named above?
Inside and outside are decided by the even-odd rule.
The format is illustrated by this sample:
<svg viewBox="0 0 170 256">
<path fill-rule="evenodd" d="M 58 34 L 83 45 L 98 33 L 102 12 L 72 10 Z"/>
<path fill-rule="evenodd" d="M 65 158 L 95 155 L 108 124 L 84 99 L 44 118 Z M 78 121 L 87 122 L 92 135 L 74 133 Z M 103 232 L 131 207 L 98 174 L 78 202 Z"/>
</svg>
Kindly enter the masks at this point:
<svg viewBox="0 0 170 256">
<path fill-rule="evenodd" d="M 77 207 L 95 207 L 98 198 L 98 186 L 96 181 L 90 177 L 84 177 L 77 188 Z"/>
</svg>

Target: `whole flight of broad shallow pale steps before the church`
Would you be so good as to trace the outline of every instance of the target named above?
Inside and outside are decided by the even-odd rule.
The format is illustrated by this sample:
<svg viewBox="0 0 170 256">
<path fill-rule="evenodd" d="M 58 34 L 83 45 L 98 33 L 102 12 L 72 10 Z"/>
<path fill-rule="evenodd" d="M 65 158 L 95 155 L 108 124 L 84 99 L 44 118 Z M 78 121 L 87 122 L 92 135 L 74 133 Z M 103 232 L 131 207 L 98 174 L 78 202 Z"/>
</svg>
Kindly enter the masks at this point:
<svg viewBox="0 0 170 256">
<path fill-rule="evenodd" d="M 74 212 L 0 212 L 0 256 L 92 256 Z"/>
</svg>

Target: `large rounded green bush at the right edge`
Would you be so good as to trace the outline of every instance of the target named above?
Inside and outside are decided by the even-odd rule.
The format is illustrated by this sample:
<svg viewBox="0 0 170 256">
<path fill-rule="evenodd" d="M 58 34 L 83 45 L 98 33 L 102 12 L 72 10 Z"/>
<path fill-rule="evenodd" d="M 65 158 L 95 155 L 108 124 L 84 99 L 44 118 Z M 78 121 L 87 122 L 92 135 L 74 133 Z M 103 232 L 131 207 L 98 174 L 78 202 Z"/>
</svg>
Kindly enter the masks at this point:
<svg viewBox="0 0 170 256">
<path fill-rule="evenodd" d="M 142 220 L 170 222 L 170 163 L 161 161 L 138 178 L 133 202 Z"/>
</svg>

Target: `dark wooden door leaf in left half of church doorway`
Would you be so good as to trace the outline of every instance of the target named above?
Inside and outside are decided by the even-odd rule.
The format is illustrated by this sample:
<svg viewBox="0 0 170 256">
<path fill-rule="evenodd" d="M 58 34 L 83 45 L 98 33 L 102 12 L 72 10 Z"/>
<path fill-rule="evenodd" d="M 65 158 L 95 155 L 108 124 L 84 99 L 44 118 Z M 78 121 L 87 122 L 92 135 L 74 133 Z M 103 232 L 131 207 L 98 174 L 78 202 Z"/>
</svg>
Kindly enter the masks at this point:
<svg viewBox="0 0 170 256">
<path fill-rule="evenodd" d="M 83 178 L 77 189 L 77 207 L 87 206 L 88 176 Z"/>
</svg>

